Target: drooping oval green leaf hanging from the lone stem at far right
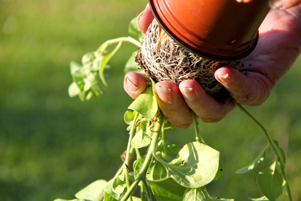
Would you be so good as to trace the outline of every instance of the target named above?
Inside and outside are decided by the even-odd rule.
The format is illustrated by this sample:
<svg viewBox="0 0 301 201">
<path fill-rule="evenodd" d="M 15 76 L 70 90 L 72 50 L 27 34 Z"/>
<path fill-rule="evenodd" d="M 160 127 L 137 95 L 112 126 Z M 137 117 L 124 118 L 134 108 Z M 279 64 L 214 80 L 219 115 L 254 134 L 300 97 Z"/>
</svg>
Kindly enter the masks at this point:
<svg viewBox="0 0 301 201">
<path fill-rule="evenodd" d="M 261 192 L 271 201 L 282 193 L 282 175 L 276 161 L 257 175 L 257 183 Z"/>
</svg>

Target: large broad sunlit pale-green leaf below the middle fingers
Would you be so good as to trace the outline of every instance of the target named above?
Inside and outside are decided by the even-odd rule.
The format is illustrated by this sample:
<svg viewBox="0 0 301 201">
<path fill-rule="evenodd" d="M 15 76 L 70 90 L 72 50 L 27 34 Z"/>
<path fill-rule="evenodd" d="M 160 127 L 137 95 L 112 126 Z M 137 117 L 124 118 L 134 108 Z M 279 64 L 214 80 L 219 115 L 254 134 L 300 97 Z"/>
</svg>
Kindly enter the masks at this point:
<svg viewBox="0 0 301 201">
<path fill-rule="evenodd" d="M 156 157 L 180 185 L 198 188 L 210 183 L 218 170 L 219 152 L 199 142 L 184 145 L 170 163 Z"/>
</svg>

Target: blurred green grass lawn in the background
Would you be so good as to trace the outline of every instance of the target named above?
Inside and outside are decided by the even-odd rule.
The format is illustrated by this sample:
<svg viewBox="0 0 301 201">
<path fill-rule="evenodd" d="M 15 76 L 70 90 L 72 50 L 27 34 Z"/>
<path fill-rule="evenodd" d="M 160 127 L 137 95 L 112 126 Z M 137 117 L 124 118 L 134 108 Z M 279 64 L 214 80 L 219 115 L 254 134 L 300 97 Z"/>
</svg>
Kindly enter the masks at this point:
<svg viewBox="0 0 301 201">
<path fill-rule="evenodd" d="M 123 114 L 131 103 L 123 91 L 123 66 L 135 47 L 121 48 L 107 70 L 106 94 L 85 103 L 68 97 L 69 63 L 108 39 L 127 36 L 129 21 L 146 3 L 0 2 L 0 200 L 72 199 L 90 182 L 114 175 L 126 149 Z M 262 106 L 246 107 L 284 149 L 295 200 L 301 199 L 300 86 L 299 58 Z M 255 173 L 234 172 L 265 146 L 260 130 L 238 109 L 199 127 L 221 152 L 224 166 L 209 192 L 237 200 L 259 196 Z M 194 139 L 192 128 L 176 128 L 167 136 L 178 145 Z"/>
</svg>

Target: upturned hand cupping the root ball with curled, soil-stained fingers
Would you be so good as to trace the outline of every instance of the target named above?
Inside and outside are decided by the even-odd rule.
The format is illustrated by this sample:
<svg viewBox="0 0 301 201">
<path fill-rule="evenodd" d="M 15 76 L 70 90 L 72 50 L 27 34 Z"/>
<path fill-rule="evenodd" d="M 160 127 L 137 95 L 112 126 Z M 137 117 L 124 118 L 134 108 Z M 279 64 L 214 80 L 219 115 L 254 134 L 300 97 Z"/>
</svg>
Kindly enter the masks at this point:
<svg viewBox="0 0 301 201">
<path fill-rule="evenodd" d="M 293 2 L 293 1 L 292 1 Z M 149 7 L 139 15 L 142 32 L 154 19 Z M 249 106 L 262 104 L 275 83 L 285 74 L 301 52 L 301 6 L 272 10 L 259 28 L 259 41 L 254 51 L 244 59 L 241 71 L 221 67 L 215 78 L 230 92 L 237 103 Z M 124 89 L 136 98 L 146 87 L 141 73 L 130 72 L 124 77 Z M 233 108 L 226 99 L 217 102 L 206 94 L 195 80 L 184 80 L 179 86 L 170 81 L 156 83 L 158 104 L 166 118 L 175 126 L 187 128 L 192 123 L 191 110 L 204 122 L 218 122 Z"/>
</svg>

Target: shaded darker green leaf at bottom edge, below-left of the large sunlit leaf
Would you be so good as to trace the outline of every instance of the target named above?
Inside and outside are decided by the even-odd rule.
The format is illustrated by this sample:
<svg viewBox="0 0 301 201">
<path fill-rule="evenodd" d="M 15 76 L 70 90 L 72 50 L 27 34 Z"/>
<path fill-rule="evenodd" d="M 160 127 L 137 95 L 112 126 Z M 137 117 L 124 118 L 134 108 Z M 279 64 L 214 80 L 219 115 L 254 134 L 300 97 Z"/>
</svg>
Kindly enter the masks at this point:
<svg viewBox="0 0 301 201">
<path fill-rule="evenodd" d="M 186 190 L 184 186 L 179 185 L 172 178 L 161 182 L 147 180 L 147 184 L 152 188 L 156 200 L 181 201 Z"/>
</svg>

